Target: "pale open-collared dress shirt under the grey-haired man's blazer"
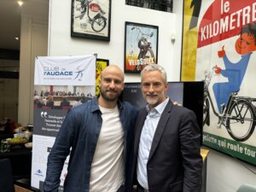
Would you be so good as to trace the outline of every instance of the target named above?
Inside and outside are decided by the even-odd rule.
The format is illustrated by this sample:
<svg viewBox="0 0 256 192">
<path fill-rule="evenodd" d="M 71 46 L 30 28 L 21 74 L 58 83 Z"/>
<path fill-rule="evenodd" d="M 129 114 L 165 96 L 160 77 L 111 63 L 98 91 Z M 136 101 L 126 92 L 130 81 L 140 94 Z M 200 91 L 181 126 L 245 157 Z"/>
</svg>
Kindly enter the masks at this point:
<svg viewBox="0 0 256 192">
<path fill-rule="evenodd" d="M 168 101 L 169 98 L 151 110 L 149 110 L 147 106 L 148 115 L 143 125 L 137 156 L 137 181 L 144 189 L 148 189 L 147 164 L 154 132 L 160 120 L 161 113 L 163 113 L 166 108 Z"/>
</svg>

